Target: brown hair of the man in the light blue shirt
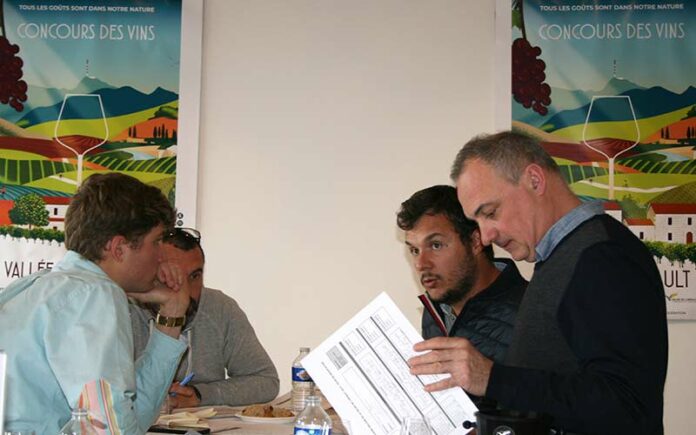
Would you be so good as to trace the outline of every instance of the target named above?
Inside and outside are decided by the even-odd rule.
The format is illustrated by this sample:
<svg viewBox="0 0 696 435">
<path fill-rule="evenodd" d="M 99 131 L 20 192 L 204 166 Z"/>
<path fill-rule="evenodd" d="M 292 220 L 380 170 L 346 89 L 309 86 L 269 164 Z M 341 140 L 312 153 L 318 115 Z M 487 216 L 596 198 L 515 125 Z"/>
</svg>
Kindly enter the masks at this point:
<svg viewBox="0 0 696 435">
<path fill-rule="evenodd" d="M 174 208 L 162 192 L 125 174 L 91 175 L 65 214 L 65 247 L 99 261 L 107 242 L 121 235 L 134 246 L 157 225 L 174 224 Z"/>
</svg>

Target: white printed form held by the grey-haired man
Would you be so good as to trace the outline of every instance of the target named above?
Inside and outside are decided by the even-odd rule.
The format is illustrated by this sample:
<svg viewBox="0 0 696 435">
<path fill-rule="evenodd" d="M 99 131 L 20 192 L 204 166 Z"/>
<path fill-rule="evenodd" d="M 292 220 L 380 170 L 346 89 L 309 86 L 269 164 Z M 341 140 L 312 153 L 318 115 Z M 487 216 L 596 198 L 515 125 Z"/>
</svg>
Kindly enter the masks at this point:
<svg viewBox="0 0 696 435">
<path fill-rule="evenodd" d="M 392 299 L 380 294 L 302 360 L 351 434 L 399 433 L 401 419 L 425 417 L 437 435 L 465 434 L 476 406 L 461 388 L 427 393 L 448 375 L 414 376 L 406 361 L 423 338 Z"/>
</svg>

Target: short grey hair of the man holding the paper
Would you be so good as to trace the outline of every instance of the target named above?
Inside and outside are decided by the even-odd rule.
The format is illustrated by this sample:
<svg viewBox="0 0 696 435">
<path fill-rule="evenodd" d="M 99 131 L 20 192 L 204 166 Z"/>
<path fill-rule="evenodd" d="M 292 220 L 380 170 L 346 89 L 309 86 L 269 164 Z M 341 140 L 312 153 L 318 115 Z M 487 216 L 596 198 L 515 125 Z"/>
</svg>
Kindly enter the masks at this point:
<svg viewBox="0 0 696 435">
<path fill-rule="evenodd" d="M 513 131 L 475 136 L 457 153 L 450 178 L 456 182 L 465 170 L 466 162 L 480 159 L 513 184 L 520 181 L 524 169 L 535 163 L 560 175 L 558 165 L 531 136 Z"/>
</svg>

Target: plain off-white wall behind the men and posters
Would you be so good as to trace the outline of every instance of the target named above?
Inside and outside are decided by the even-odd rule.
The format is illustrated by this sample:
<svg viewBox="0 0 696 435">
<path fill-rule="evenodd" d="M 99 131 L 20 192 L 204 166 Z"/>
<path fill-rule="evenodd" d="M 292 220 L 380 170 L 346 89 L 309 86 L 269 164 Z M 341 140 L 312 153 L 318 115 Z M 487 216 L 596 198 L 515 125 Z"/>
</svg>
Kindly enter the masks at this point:
<svg viewBox="0 0 696 435">
<path fill-rule="evenodd" d="M 207 0 L 198 222 L 206 282 L 246 310 L 289 388 L 381 291 L 414 324 L 395 213 L 493 129 L 491 0 Z M 665 420 L 694 421 L 693 323 L 672 324 Z"/>
</svg>

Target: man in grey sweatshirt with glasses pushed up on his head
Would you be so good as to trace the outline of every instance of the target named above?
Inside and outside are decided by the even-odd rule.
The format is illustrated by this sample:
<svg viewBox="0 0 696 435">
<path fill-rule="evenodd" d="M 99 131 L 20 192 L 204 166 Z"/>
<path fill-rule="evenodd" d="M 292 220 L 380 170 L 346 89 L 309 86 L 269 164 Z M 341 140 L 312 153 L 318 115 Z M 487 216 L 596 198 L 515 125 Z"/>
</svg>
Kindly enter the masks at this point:
<svg viewBox="0 0 696 435">
<path fill-rule="evenodd" d="M 247 405 L 272 400 L 279 387 L 276 368 L 237 302 L 203 286 L 205 254 L 200 240 L 200 233 L 192 228 L 175 228 L 163 239 L 164 257 L 181 268 L 191 296 L 181 334 L 188 351 L 170 388 L 169 405 Z M 152 304 L 131 304 L 136 358 L 148 342 L 157 310 Z M 190 382 L 181 385 L 184 379 Z"/>
</svg>

